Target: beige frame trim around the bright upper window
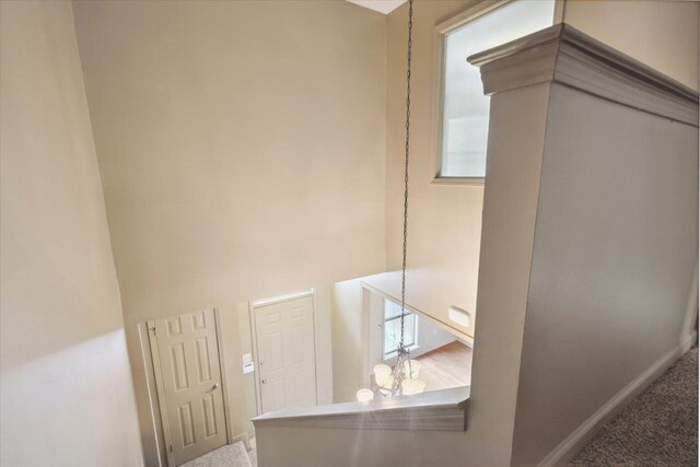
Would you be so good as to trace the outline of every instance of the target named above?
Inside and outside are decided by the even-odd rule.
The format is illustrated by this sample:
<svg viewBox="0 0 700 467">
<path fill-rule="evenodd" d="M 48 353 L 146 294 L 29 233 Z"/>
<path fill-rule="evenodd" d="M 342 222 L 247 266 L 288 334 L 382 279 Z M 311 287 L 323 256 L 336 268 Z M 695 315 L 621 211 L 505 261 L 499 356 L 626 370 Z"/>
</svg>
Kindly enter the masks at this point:
<svg viewBox="0 0 700 467">
<path fill-rule="evenodd" d="M 442 175 L 442 144 L 443 144 L 443 110 L 445 101 L 445 39 L 447 34 L 478 20 L 481 16 L 490 14 L 495 10 L 503 8 L 517 0 L 483 0 L 467 10 L 453 15 L 435 25 L 434 43 L 435 43 L 435 71 L 433 73 L 433 150 L 435 151 L 434 176 L 432 184 L 435 185 L 466 185 L 466 186 L 483 186 L 485 177 L 468 176 L 451 176 Z M 563 20 L 563 1 L 555 0 L 555 17 L 552 24 L 561 23 Z"/>
</svg>

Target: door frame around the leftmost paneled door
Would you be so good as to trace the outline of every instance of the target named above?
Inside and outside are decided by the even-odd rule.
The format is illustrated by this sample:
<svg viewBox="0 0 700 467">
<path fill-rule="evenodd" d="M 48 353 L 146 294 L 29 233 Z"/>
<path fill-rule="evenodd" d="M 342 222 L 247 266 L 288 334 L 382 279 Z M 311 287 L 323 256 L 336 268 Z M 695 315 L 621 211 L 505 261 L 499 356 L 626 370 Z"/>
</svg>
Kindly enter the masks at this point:
<svg viewBox="0 0 700 467">
<path fill-rule="evenodd" d="M 214 315 L 214 330 L 217 331 L 217 349 L 219 353 L 219 372 L 221 374 L 221 392 L 223 395 L 223 418 L 224 418 L 224 428 L 226 430 L 226 444 L 231 444 L 231 420 L 229 417 L 230 408 L 229 408 L 229 393 L 226 390 L 226 374 L 225 374 L 225 364 L 224 364 L 224 354 L 222 351 L 221 345 L 221 318 L 219 316 L 219 308 L 207 308 L 212 310 Z M 183 315 L 188 315 L 191 313 L 184 313 Z M 177 315 L 177 316 L 183 316 Z M 155 394 L 158 399 L 158 408 L 161 415 L 161 427 L 163 428 L 163 441 L 165 442 L 164 451 L 165 456 L 167 457 L 168 467 L 175 466 L 175 459 L 173 458 L 173 451 L 171 446 L 173 444 L 173 439 L 171 436 L 171 424 L 167 419 L 167 406 L 165 404 L 165 392 L 163 389 L 163 374 L 161 366 L 161 355 L 158 350 L 158 336 L 155 335 L 155 320 L 145 322 L 145 326 L 149 334 L 149 347 L 151 351 L 151 362 L 153 364 L 153 375 L 155 376 Z"/>
</svg>

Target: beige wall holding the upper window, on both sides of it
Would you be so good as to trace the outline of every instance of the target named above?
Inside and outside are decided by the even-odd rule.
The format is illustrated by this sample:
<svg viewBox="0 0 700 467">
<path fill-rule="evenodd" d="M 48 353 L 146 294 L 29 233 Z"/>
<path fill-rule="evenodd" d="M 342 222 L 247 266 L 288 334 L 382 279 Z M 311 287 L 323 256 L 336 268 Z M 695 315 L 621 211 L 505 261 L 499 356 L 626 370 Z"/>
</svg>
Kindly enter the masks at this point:
<svg viewBox="0 0 700 467">
<path fill-rule="evenodd" d="M 408 294 L 411 305 L 448 322 L 450 305 L 476 312 L 483 188 L 435 185 L 440 97 L 435 25 L 476 2 L 417 2 L 413 20 Z M 567 0 L 563 21 L 698 89 L 697 2 Z M 400 268 L 406 100 L 406 14 L 387 22 L 387 269 Z M 376 284 L 385 287 L 384 284 Z M 392 289 L 398 288 L 398 279 Z M 474 335 L 474 328 L 459 330 Z"/>
</svg>

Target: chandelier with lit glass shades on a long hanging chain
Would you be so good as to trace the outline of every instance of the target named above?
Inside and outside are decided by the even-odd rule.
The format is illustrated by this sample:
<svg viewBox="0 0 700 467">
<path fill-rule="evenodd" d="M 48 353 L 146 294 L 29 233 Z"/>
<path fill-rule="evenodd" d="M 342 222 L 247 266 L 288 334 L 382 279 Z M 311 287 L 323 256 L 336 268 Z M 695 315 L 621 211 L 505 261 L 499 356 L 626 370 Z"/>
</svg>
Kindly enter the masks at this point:
<svg viewBox="0 0 700 467">
<path fill-rule="evenodd" d="M 410 351 L 405 346 L 404 329 L 406 318 L 406 253 L 408 246 L 408 155 L 411 121 L 411 51 L 413 48 L 413 0 L 408 0 L 408 52 L 406 57 L 406 164 L 404 166 L 404 261 L 401 266 L 401 316 L 400 334 L 396 364 L 392 369 L 385 364 L 374 366 L 374 385 L 372 388 L 358 390 L 358 400 L 369 401 L 375 394 L 383 397 L 418 394 L 425 390 L 425 383 L 418 378 L 420 363 L 411 360 Z"/>
</svg>

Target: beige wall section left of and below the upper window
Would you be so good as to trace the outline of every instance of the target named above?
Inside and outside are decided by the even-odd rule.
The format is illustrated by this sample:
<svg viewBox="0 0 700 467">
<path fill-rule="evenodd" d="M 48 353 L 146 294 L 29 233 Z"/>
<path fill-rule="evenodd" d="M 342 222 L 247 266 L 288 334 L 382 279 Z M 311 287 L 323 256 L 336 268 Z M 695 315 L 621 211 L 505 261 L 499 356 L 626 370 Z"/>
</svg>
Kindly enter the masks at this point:
<svg viewBox="0 0 700 467">
<path fill-rule="evenodd" d="M 448 320 L 451 305 L 476 311 L 483 186 L 433 184 L 438 167 L 439 80 L 435 25 L 474 1 L 423 1 L 415 5 L 411 68 L 411 160 L 407 301 L 458 330 Z M 401 266 L 404 144 L 406 124 L 406 16 L 404 4 L 388 15 L 386 90 L 386 254 L 387 269 Z M 397 289 L 393 285 L 378 288 Z M 389 292 L 389 291 L 387 291 Z"/>
</svg>

